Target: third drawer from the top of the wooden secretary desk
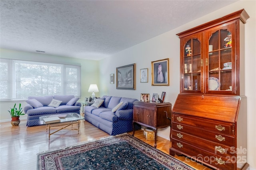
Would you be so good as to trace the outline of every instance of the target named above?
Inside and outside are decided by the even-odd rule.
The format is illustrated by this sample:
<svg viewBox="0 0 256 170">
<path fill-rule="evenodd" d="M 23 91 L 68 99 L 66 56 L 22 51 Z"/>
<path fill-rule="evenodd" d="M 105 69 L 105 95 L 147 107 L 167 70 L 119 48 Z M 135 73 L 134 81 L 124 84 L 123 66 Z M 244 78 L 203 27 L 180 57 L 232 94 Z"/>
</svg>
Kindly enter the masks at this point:
<svg viewBox="0 0 256 170">
<path fill-rule="evenodd" d="M 222 156 L 230 157 L 236 156 L 236 150 L 233 147 L 198 138 L 196 136 L 189 135 L 187 133 L 182 133 L 180 131 L 172 130 L 172 138 L 185 143 L 189 143 L 195 147 L 208 150 L 209 152 L 214 154 L 221 154 Z"/>
</svg>

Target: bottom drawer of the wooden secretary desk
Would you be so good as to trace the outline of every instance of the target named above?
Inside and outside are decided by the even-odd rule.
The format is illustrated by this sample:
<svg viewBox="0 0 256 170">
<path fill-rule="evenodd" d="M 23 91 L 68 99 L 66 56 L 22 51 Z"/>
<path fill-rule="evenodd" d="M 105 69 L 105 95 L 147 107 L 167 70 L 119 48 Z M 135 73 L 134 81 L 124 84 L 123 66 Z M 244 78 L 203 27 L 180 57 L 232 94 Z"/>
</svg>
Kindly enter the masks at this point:
<svg viewBox="0 0 256 170">
<path fill-rule="evenodd" d="M 200 162 L 215 166 L 222 170 L 234 170 L 236 168 L 236 157 L 235 156 L 219 156 L 212 154 L 206 150 L 199 149 L 188 143 L 172 139 L 172 148 L 179 150 L 182 154 L 189 156 L 190 161 L 198 160 Z M 170 149 L 171 150 L 171 149 Z M 232 160 L 230 160 L 232 158 Z"/>
</svg>

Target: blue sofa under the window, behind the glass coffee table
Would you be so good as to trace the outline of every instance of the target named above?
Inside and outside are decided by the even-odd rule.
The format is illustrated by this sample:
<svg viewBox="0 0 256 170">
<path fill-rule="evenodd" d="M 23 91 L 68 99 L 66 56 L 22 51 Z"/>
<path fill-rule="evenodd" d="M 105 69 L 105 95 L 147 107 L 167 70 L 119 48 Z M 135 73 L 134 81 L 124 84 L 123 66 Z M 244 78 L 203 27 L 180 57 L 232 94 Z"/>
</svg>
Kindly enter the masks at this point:
<svg viewBox="0 0 256 170">
<path fill-rule="evenodd" d="M 78 100 L 79 98 L 75 98 L 73 95 L 28 97 L 28 100 L 26 100 L 28 104 L 24 107 L 24 113 L 28 115 L 27 126 L 30 127 L 40 125 L 39 117 L 44 115 L 65 113 L 80 114 L 81 103 L 77 102 Z M 52 104 L 55 104 L 53 102 L 58 104 L 56 106 L 52 106 Z"/>
</svg>

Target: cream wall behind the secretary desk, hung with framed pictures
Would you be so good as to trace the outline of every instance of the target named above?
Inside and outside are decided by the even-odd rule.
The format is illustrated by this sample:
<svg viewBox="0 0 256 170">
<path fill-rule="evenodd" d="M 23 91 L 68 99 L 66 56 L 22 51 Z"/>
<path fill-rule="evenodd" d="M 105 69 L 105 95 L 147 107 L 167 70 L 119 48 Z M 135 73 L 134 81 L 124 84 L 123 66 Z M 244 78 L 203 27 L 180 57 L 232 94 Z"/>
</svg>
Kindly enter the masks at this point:
<svg viewBox="0 0 256 170">
<path fill-rule="evenodd" d="M 203 2 L 203 1 L 202 1 Z M 116 53 L 100 61 L 100 95 L 126 96 L 140 100 L 141 93 L 161 94 L 166 92 L 166 102 L 172 103 L 180 92 L 180 46 L 176 33 L 180 33 L 202 23 L 220 18 L 244 8 L 250 18 L 245 24 L 245 94 L 248 101 L 248 163 L 250 170 L 256 169 L 256 1 L 238 1 L 211 14 L 191 21 L 162 35 L 142 42 L 134 47 Z M 199 11 L 200 12 L 200 11 Z M 189 17 L 189 16 L 188 16 Z M 151 61 L 169 58 L 170 86 L 151 86 Z M 116 90 L 116 67 L 136 63 L 136 90 Z M 148 83 L 140 83 L 140 69 L 148 68 Z M 115 83 L 110 84 L 110 74 L 115 74 Z M 159 131 L 158 135 L 169 138 L 170 128 Z"/>
</svg>

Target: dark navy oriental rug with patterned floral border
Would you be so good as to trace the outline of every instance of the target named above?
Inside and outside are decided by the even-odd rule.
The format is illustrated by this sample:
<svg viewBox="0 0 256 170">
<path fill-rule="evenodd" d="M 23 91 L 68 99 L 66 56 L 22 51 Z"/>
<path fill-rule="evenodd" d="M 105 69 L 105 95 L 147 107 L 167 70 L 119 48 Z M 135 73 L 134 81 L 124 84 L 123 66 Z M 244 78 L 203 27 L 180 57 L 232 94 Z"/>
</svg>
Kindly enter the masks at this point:
<svg viewBox="0 0 256 170">
<path fill-rule="evenodd" d="M 194 170 L 132 137 L 111 136 L 66 149 L 38 153 L 38 170 Z"/>
</svg>

